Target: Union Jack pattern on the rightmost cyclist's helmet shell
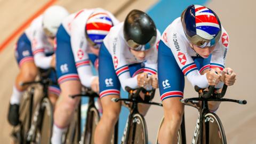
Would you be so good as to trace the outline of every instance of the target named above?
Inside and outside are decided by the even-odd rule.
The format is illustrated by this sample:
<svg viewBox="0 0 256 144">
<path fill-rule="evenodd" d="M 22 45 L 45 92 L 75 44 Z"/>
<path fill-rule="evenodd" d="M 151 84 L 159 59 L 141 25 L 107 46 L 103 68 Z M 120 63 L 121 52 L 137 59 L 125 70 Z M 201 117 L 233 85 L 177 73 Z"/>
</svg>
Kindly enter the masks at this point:
<svg viewBox="0 0 256 144">
<path fill-rule="evenodd" d="M 205 38 L 213 39 L 220 31 L 220 23 L 212 10 L 202 5 L 195 6 L 196 34 Z"/>
</svg>

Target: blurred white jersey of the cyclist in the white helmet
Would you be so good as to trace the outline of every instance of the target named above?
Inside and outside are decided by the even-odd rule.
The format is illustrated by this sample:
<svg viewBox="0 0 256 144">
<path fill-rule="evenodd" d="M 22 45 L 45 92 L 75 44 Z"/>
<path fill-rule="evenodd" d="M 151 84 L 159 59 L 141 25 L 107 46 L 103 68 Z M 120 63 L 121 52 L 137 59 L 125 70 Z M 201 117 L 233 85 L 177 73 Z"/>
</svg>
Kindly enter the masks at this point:
<svg viewBox="0 0 256 144">
<path fill-rule="evenodd" d="M 42 69 L 50 68 L 53 46 L 47 41 L 47 37 L 43 30 L 43 15 L 34 19 L 30 26 L 25 30 L 31 49 L 34 55 L 35 65 Z"/>
</svg>

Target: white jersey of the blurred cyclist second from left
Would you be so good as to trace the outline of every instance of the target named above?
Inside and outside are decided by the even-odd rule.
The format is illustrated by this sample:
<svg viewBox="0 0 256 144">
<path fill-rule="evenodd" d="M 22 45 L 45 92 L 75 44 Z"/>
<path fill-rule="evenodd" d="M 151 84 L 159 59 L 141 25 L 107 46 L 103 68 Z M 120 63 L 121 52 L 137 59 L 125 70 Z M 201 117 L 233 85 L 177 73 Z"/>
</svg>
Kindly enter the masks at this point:
<svg viewBox="0 0 256 144">
<path fill-rule="evenodd" d="M 71 49 L 73 51 L 79 79 L 86 87 L 91 87 L 91 82 L 94 76 L 92 74 L 89 60 L 89 53 L 92 52 L 85 37 L 85 26 L 87 19 L 89 19 L 90 15 L 95 11 L 107 13 L 114 26 L 119 23 L 113 14 L 100 8 L 83 9 L 77 13 L 70 14 L 62 22 L 62 26 L 70 36 Z"/>
</svg>

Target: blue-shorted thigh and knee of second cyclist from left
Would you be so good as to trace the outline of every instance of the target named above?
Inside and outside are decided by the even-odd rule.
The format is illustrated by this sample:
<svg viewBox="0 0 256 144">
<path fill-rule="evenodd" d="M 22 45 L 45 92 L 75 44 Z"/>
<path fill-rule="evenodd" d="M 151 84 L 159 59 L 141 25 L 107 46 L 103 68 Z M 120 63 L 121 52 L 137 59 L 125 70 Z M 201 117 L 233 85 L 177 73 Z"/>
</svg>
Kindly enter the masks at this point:
<svg viewBox="0 0 256 144">
<path fill-rule="evenodd" d="M 76 70 L 70 37 L 63 26 L 60 26 L 57 33 L 57 50 L 55 54 L 56 72 L 62 95 L 68 97 L 70 94 L 80 93 L 81 83 Z"/>
</svg>

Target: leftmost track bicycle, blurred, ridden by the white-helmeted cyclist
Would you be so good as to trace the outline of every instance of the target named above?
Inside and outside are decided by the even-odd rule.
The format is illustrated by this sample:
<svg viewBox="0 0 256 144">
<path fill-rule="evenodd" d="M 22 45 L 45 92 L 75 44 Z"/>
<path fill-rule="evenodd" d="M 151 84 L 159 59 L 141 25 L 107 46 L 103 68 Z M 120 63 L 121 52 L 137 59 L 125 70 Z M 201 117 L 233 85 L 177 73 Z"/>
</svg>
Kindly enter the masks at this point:
<svg viewBox="0 0 256 144">
<path fill-rule="evenodd" d="M 56 84 L 49 77 L 52 68 L 39 75 L 39 81 L 25 82 L 20 85 L 29 85 L 22 97 L 19 113 L 20 124 L 12 131 L 15 143 L 50 143 L 53 125 L 52 104 L 48 97 L 48 87 Z M 43 87 L 41 97 L 34 109 L 35 84 Z"/>
</svg>

